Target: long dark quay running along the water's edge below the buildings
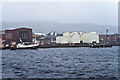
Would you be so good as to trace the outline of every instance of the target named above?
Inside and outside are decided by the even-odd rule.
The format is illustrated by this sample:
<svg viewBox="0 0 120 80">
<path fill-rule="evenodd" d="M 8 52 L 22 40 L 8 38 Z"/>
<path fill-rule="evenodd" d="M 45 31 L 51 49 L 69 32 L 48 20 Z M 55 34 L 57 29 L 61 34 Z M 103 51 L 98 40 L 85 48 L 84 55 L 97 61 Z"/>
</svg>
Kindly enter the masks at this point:
<svg viewBox="0 0 120 80">
<path fill-rule="evenodd" d="M 106 47 L 112 47 L 112 46 L 120 46 L 120 45 L 96 44 L 96 45 L 92 46 L 92 44 L 76 44 L 76 45 L 49 44 L 49 45 L 39 45 L 37 48 L 76 48 L 76 47 L 106 48 Z M 37 48 L 25 48 L 25 49 L 37 49 Z M 0 49 L 1 50 L 5 50 L 5 49 L 11 49 L 12 50 L 13 48 L 10 48 L 10 47 L 0 47 Z M 21 48 L 21 49 L 24 49 L 24 48 Z"/>
</svg>

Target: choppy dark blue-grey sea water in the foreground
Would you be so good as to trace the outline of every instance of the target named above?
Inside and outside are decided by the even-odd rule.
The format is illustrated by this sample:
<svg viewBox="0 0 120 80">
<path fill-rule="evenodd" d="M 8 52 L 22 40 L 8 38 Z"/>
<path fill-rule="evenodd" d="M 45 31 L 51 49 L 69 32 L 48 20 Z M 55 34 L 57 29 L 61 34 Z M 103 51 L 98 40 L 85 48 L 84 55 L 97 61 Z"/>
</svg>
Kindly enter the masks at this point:
<svg viewBox="0 0 120 80">
<path fill-rule="evenodd" d="M 118 48 L 3 50 L 3 78 L 118 77 Z"/>
</svg>

